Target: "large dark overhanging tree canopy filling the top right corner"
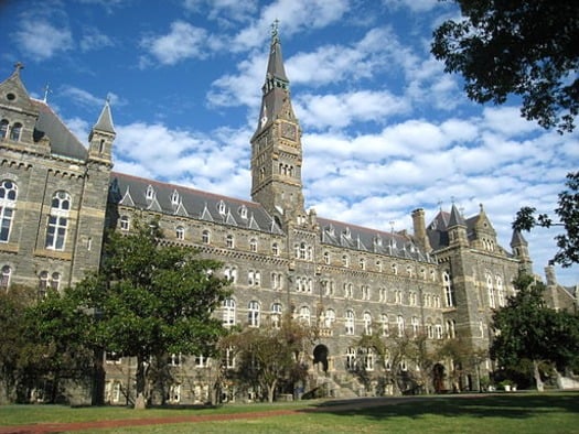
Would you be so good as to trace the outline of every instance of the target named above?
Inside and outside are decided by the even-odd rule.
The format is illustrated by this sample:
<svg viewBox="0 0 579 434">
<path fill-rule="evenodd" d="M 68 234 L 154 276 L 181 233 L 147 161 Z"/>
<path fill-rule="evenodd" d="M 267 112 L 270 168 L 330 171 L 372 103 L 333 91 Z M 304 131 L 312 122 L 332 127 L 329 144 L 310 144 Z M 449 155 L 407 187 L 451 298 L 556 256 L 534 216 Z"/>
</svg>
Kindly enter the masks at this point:
<svg viewBox="0 0 579 434">
<path fill-rule="evenodd" d="M 454 0 L 462 20 L 444 21 L 431 52 L 464 77 L 473 101 L 522 98 L 522 115 L 570 132 L 579 111 L 579 8 L 567 0 Z"/>
</svg>

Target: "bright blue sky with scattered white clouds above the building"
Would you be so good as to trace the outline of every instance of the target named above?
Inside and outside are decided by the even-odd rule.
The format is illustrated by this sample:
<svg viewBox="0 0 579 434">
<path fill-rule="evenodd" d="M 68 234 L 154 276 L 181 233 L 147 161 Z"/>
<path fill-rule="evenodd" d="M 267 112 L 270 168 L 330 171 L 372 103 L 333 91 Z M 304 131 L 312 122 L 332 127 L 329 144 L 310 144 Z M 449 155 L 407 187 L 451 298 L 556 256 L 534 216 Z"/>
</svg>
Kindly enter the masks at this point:
<svg viewBox="0 0 579 434">
<path fill-rule="evenodd" d="M 559 135 L 512 105 L 470 102 L 429 54 L 458 18 L 438 0 L 44 0 L 0 2 L 0 79 L 18 61 L 29 93 L 86 142 L 105 99 L 115 170 L 249 199 L 270 25 L 279 20 L 303 184 L 319 216 L 411 230 L 454 202 L 484 205 L 510 250 L 523 205 L 553 213 L 579 166 L 579 134 Z M 525 234 L 535 272 L 556 230 Z M 564 284 L 577 267 L 558 269 Z"/>
</svg>

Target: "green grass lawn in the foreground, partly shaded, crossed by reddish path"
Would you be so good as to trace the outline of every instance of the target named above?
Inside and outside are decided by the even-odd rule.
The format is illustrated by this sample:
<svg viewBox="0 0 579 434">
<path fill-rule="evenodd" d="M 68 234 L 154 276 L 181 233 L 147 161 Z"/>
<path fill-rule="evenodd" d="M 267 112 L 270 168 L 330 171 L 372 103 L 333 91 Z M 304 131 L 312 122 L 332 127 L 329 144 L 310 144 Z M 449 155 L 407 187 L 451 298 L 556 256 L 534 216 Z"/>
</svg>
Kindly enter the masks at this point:
<svg viewBox="0 0 579 434">
<path fill-rule="evenodd" d="M 396 399 L 378 406 L 355 403 L 344 409 L 332 401 L 227 405 L 219 409 L 119 408 L 69 409 L 53 405 L 0 406 L 2 425 L 126 419 L 183 417 L 293 410 L 283 415 L 227 421 L 183 422 L 82 433 L 579 433 L 579 392 L 496 393 L 491 395 Z M 392 402 L 392 400 L 390 400 Z"/>
</svg>

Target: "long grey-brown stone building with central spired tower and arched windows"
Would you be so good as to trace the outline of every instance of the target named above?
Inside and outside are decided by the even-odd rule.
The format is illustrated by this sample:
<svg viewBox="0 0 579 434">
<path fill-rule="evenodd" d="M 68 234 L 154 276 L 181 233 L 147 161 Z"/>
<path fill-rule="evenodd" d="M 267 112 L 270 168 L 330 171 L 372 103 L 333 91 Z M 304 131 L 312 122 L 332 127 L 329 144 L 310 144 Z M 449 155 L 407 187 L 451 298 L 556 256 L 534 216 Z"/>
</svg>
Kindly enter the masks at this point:
<svg viewBox="0 0 579 434">
<path fill-rule="evenodd" d="M 136 218 L 159 217 L 170 242 L 194 246 L 203 257 L 223 262 L 234 289 L 217 312 L 224 325 L 275 326 L 291 313 L 315 326 L 307 386 L 323 383 L 344 395 L 376 392 L 353 373 L 360 368 L 362 335 L 423 334 L 431 343 L 460 336 L 472 349 L 487 349 L 492 310 L 513 292 L 519 270 L 532 272 L 525 239 L 515 232 L 511 249 L 503 248 L 482 205 L 470 218 L 452 205 L 428 225 L 418 208 L 412 234 L 305 210 L 301 127 L 277 31 L 250 140 L 251 200 L 112 172 L 116 133 L 108 102 L 86 148 L 46 101 L 29 96 L 20 69 L 0 83 L 3 289 L 26 284 L 45 292 L 72 285 L 98 267 L 105 225 L 130 231 Z M 549 279 L 557 307 L 572 303 L 553 273 Z M 323 368 L 314 364 L 320 350 L 326 355 Z M 385 369 L 368 352 L 362 362 L 369 373 Z M 131 399 L 131 364 L 135 359 L 107 354 L 107 402 Z M 170 402 L 208 399 L 221 362 L 195 355 L 173 356 L 170 365 L 175 379 Z M 479 368 L 490 370 L 490 361 L 481 360 Z M 475 386 L 464 378 L 462 387 Z"/>
</svg>

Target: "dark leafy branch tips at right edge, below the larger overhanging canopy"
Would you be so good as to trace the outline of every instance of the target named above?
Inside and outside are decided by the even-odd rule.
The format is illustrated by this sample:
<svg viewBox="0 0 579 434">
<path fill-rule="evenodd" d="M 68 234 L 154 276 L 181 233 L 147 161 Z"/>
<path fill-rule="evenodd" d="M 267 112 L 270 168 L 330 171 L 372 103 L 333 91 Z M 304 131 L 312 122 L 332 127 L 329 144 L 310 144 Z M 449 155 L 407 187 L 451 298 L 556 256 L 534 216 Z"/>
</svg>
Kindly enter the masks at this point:
<svg viewBox="0 0 579 434">
<path fill-rule="evenodd" d="M 527 206 L 517 213 L 513 229 L 528 231 L 535 226 L 562 226 L 565 234 L 555 237 L 559 251 L 553 258 L 553 262 L 561 267 L 571 267 L 579 263 L 579 172 L 567 174 L 565 184 L 568 189 L 559 193 L 559 206 L 555 209 L 560 223 L 554 223 L 546 214 L 535 217 L 536 208 Z"/>
</svg>

